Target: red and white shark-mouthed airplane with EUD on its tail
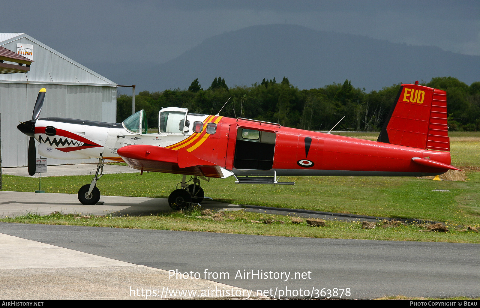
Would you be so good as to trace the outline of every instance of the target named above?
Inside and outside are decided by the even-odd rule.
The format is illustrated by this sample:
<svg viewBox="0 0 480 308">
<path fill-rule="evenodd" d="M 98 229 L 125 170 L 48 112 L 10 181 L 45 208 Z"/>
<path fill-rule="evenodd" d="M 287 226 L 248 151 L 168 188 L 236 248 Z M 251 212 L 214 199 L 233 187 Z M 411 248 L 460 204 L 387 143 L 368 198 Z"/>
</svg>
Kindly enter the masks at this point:
<svg viewBox="0 0 480 308">
<path fill-rule="evenodd" d="M 43 104 L 43 98 L 39 100 Z M 143 110 L 114 124 L 37 119 L 41 104 L 38 108 L 36 104 L 33 120 L 18 125 L 40 142 L 41 155 L 99 159 L 96 176 L 79 190 L 83 204 L 95 204 L 100 198 L 96 180 L 102 176 L 105 159 L 125 162 L 142 172 L 183 175 L 181 188 L 168 198 L 172 209 L 204 199 L 200 179 L 233 175 L 239 184 L 293 185 L 278 182 L 277 177 L 418 177 L 459 170 L 450 165 L 446 92 L 418 82 L 401 85 L 377 141 L 194 114 L 177 107 L 161 109 L 159 132 L 147 134 Z M 30 170 L 35 168 L 30 166 L 31 152 L 29 146 L 29 172 L 35 173 Z M 32 155 L 35 159 L 35 148 Z M 191 176 L 189 181 L 186 176 Z"/>
</svg>

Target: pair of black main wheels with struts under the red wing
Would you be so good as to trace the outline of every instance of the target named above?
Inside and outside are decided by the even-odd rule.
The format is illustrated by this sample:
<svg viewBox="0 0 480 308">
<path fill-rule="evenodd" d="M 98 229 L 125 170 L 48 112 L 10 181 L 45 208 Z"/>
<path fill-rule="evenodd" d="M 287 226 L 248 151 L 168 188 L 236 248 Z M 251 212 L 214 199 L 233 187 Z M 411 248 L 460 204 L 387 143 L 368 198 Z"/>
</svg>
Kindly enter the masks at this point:
<svg viewBox="0 0 480 308">
<path fill-rule="evenodd" d="M 168 205 L 173 210 L 181 210 L 189 207 L 191 204 L 198 204 L 204 200 L 204 190 L 200 187 L 200 179 L 193 178 L 193 184 L 186 183 L 187 176 L 183 176 L 180 189 L 174 190 L 168 196 Z"/>
</svg>

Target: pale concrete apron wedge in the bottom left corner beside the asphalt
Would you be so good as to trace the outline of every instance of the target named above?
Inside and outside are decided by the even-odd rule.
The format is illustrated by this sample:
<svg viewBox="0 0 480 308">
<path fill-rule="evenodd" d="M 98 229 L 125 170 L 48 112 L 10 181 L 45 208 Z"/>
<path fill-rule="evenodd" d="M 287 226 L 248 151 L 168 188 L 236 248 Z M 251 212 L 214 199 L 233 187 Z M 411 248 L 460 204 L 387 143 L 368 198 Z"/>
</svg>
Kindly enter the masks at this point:
<svg viewBox="0 0 480 308">
<path fill-rule="evenodd" d="M 247 299 L 249 294 L 249 299 L 269 299 L 252 290 L 192 279 L 188 274 L 182 276 L 186 279 L 176 276 L 0 233 L 3 299 Z"/>
</svg>

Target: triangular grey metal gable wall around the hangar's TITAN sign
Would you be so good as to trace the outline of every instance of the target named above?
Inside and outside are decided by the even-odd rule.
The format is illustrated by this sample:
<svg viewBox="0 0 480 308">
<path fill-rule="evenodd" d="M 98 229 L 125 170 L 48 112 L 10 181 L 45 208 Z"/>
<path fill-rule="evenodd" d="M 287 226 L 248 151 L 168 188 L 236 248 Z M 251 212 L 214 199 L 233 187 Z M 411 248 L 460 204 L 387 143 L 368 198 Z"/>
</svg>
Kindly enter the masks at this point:
<svg viewBox="0 0 480 308">
<path fill-rule="evenodd" d="M 72 64 L 59 55 L 29 40 L 19 38 L 1 45 L 16 52 L 17 43 L 33 45 L 33 60 L 28 73 L 0 74 L 0 80 L 40 81 L 55 83 L 107 83 L 105 80 Z"/>
</svg>

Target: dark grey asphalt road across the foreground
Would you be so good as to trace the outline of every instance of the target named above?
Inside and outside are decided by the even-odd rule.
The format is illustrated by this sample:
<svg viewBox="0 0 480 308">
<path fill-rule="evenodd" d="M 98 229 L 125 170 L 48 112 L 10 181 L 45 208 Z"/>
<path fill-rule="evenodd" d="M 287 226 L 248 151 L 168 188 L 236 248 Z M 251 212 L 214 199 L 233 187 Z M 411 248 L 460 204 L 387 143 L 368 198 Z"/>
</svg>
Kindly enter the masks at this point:
<svg viewBox="0 0 480 308">
<path fill-rule="evenodd" d="M 12 223 L 0 223 L 0 233 L 164 270 L 198 272 L 201 278 L 204 272 L 228 272 L 229 279 L 211 274 L 210 280 L 272 293 L 349 288 L 349 298 L 480 296 L 479 244 Z M 267 272 L 269 278 L 236 277 L 244 270 Z M 286 274 L 275 279 L 275 272 L 290 275 L 284 281 Z M 293 279 L 295 272 L 298 279 Z"/>
</svg>

